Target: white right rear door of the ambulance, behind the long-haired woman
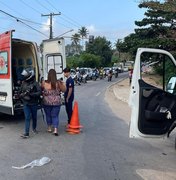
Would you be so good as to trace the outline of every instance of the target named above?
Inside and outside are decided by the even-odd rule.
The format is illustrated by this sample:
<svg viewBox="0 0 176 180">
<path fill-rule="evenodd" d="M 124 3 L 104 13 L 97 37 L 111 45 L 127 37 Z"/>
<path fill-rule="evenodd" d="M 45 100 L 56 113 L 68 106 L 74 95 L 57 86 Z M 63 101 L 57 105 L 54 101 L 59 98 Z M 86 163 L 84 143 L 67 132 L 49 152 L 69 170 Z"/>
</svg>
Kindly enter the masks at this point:
<svg viewBox="0 0 176 180">
<path fill-rule="evenodd" d="M 43 72 L 44 79 L 50 69 L 55 69 L 57 78 L 64 78 L 63 69 L 66 67 L 65 41 L 63 38 L 43 41 Z"/>
</svg>

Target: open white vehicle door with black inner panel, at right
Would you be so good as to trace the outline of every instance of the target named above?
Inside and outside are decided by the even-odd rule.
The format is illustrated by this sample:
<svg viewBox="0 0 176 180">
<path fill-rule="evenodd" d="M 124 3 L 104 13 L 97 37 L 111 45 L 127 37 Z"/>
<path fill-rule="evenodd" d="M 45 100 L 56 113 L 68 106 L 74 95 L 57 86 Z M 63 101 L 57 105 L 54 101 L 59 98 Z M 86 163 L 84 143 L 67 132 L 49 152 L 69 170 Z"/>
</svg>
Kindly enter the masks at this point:
<svg viewBox="0 0 176 180">
<path fill-rule="evenodd" d="M 175 76 L 176 61 L 169 52 L 137 50 L 129 99 L 130 137 L 163 137 L 170 131 L 176 121 L 176 95 L 168 87 Z"/>
</svg>

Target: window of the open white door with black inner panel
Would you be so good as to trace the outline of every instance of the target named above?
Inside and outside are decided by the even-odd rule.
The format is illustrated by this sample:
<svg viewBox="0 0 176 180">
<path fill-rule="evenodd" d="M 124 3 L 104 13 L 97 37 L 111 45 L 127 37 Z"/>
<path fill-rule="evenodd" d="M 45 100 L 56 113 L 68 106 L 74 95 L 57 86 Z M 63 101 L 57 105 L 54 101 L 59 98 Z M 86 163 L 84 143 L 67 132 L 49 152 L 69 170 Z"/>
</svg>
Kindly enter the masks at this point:
<svg viewBox="0 0 176 180">
<path fill-rule="evenodd" d="M 166 90 L 167 83 L 176 76 L 172 59 L 159 53 L 143 53 L 141 56 L 141 78 L 148 84 Z"/>
</svg>

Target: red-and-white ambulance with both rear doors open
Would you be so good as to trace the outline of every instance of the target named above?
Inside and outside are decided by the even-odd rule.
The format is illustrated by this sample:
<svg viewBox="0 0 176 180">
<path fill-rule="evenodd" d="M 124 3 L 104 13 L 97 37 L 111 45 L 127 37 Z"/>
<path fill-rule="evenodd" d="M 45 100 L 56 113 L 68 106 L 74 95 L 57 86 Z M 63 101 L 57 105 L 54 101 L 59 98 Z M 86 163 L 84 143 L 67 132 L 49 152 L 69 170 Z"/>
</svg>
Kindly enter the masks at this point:
<svg viewBox="0 0 176 180">
<path fill-rule="evenodd" d="M 12 38 L 14 30 L 0 34 L 0 113 L 15 115 L 23 104 L 19 98 L 23 69 L 31 67 L 36 81 L 46 79 L 54 68 L 63 77 L 66 67 L 63 38 L 44 40 L 42 52 L 35 42 Z"/>
</svg>

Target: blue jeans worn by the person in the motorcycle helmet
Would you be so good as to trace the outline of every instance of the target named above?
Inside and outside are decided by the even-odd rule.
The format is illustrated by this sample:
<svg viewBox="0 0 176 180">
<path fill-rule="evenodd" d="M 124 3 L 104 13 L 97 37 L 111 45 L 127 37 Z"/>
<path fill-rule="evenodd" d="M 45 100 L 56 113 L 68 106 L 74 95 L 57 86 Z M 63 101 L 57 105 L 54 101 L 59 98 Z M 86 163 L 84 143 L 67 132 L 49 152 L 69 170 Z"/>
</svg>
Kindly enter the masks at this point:
<svg viewBox="0 0 176 180">
<path fill-rule="evenodd" d="M 32 117 L 32 129 L 37 127 L 37 105 L 24 105 L 23 107 L 25 115 L 25 134 L 29 134 L 30 120 Z"/>
</svg>

